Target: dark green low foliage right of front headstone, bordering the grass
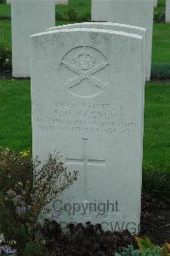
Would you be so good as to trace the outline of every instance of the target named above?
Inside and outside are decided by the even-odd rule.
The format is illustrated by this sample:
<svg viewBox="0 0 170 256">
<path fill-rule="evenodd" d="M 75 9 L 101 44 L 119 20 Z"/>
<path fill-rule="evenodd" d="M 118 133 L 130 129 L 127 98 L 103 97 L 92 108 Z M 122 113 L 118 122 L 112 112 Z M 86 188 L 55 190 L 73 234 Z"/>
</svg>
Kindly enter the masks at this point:
<svg viewBox="0 0 170 256">
<path fill-rule="evenodd" d="M 143 172 L 143 193 L 170 199 L 170 172 Z"/>
</svg>

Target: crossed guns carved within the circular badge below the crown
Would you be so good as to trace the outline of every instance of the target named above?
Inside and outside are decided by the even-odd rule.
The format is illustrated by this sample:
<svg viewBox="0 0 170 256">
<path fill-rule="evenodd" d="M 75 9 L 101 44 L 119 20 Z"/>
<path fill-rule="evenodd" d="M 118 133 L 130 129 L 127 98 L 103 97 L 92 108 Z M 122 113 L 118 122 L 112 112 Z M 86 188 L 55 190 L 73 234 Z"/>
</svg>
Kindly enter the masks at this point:
<svg viewBox="0 0 170 256">
<path fill-rule="evenodd" d="M 92 67 L 91 69 L 89 69 L 88 71 L 82 71 L 82 69 L 76 67 L 75 65 L 69 63 L 68 61 L 62 61 L 62 63 L 64 64 L 65 67 L 68 67 L 69 69 L 71 69 L 72 71 L 74 71 L 75 73 L 78 74 L 78 76 L 69 79 L 69 81 L 65 84 L 67 86 L 68 89 L 71 89 L 75 86 L 77 86 L 77 84 L 80 84 L 82 82 L 82 80 L 88 80 L 89 83 L 93 84 L 95 87 L 99 88 L 99 89 L 104 89 L 105 85 L 104 83 L 100 80 L 100 79 L 96 79 L 93 74 L 99 72 L 99 70 L 107 67 L 107 65 L 109 65 L 109 62 L 101 62 L 99 65 Z"/>
</svg>

